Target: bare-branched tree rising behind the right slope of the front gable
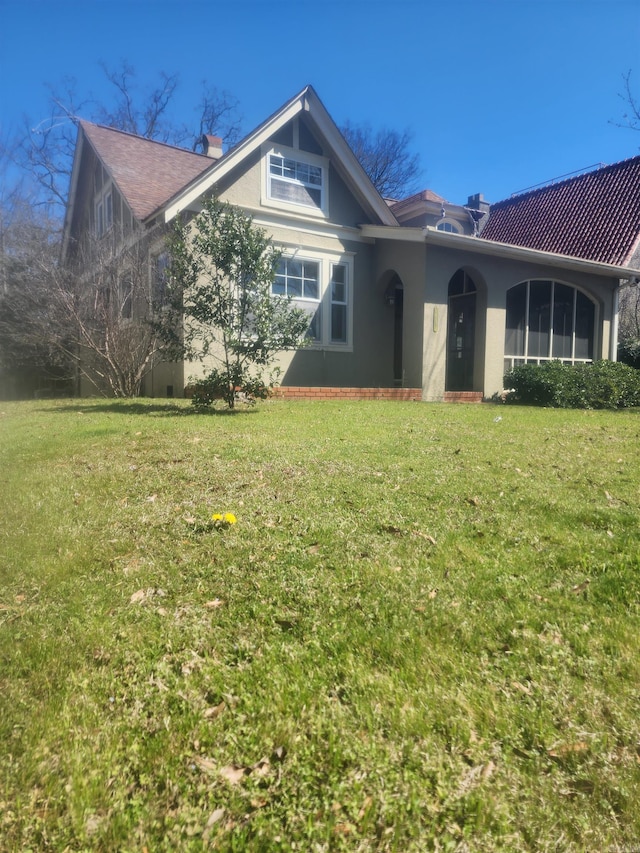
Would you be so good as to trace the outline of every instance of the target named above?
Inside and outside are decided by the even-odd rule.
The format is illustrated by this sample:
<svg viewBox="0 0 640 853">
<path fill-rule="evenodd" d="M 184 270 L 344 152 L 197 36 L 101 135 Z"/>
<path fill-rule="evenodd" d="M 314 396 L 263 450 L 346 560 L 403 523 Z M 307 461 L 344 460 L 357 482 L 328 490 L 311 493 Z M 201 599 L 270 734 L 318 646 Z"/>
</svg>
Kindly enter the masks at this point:
<svg viewBox="0 0 640 853">
<path fill-rule="evenodd" d="M 349 122 L 340 130 L 381 196 L 399 199 L 416 191 L 420 157 L 410 151 L 409 130 L 374 131 L 368 124 Z"/>
</svg>

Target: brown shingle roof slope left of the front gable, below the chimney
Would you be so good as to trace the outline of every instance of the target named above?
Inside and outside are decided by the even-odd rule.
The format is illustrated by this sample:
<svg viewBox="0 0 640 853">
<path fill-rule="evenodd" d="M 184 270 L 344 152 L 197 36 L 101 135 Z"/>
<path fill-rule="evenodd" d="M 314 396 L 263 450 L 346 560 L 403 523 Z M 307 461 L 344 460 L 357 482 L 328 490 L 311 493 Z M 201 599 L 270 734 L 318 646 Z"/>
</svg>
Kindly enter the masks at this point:
<svg viewBox="0 0 640 853">
<path fill-rule="evenodd" d="M 140 221 L 216 162 L 204 154 L 194 154 L 122 130 L 88 122 L 81 122 L 81 125 L 133 215 Z"/>
</svg>

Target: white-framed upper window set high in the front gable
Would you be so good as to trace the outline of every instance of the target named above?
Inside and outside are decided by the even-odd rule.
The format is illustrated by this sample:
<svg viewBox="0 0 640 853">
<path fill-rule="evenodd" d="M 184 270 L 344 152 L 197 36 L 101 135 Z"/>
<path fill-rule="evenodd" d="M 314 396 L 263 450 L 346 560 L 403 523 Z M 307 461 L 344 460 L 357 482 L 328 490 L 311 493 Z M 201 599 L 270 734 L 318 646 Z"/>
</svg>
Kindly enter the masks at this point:
<svg viewBox="0 0 640 853">
<path fill-rule="evenodd" d="M 265 157 L 265 204 L 324 216 L 328 161 L 297 149 L 271 148 Z"/>
</svg>

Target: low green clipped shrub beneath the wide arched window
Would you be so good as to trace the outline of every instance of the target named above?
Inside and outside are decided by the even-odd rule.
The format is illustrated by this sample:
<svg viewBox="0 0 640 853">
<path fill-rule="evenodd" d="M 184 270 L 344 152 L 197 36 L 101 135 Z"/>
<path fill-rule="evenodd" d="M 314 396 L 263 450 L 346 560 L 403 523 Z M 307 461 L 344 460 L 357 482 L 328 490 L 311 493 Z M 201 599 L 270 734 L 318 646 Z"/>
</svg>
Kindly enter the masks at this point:
<svg viewBox="0 0 640 853">
<path fill-rule="evenodd" d="M 614 361 L 523 364 L 504 377 L 507 402 L 564 409 L 640 406 L 640 371 Z"/>
</svg>

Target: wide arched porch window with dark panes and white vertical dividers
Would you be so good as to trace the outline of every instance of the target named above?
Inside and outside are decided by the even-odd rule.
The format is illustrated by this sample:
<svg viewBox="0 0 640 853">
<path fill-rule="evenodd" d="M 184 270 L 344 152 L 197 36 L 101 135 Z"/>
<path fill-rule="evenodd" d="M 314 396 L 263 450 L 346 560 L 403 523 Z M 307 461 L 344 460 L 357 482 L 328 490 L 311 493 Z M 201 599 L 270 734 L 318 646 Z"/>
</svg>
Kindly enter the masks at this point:
<svg viewBox="0 0 640 853">
<path fill-rule="evenodd" d="M 592 361 L 595 305 L 559 281 L 523 281 L 507 291 L 505 369 L 559 359 Z"/>
</svg>

